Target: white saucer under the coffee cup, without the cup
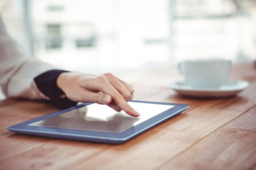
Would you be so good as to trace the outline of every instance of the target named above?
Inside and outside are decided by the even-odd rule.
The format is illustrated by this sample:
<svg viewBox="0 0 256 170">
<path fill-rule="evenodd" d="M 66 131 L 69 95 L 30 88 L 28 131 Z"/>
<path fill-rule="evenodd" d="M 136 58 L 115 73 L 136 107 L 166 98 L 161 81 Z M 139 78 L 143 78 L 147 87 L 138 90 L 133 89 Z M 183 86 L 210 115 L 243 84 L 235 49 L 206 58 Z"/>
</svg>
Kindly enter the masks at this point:
<svg viewBox="0 0 256 170">
<path fill-rule="evenodd" d="M 247 81 L 228 81 L 220 88 L 193 88 L 186 85 L 185 82 L 174 82 L 168 85 L 169 88 L 176 91 L 177 94 L 183 96 L 194 97 L 228 97 L 235 96 L 239 92 L 249 87 Z"/>
</svg>

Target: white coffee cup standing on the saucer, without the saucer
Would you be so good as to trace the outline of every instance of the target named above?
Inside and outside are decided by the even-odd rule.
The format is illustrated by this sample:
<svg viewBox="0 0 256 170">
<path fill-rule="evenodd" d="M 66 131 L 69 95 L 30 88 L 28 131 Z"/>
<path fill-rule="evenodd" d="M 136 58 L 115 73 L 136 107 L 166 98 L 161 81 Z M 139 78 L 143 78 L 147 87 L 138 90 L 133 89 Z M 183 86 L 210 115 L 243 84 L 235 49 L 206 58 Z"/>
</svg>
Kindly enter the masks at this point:
<svg viewBox="0 0 256 170">
<path fill-rule="evenodd" d="M 187 85 L 193 88 L 219 88 L 228 81 L 231 61 L 227 59 L 185 60 L 178 65 Z"/>
</svg>

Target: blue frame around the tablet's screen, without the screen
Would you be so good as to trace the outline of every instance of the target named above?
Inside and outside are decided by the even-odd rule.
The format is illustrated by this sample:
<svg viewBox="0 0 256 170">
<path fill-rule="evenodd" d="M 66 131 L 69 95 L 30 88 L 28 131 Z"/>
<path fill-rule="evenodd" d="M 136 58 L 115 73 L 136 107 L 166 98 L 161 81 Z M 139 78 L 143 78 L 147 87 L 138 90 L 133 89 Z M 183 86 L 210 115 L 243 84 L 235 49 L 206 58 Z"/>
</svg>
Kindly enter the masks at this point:
<svg viewBox="0 0 256 170">
<path fill-rule="evenodd" d="M 123 131 L 122 133 L 106 133 L 106 132 L 96 132 L 96 131 L 87 131 L 87 130 L 74 130 L 74 129 L 64 129 L 64 128 L 55 128 L 55 127 L 39 127 L 39 126 L 31 126 L 34 122 L 41 121 L 43 119 L 48 119 L 52 116 L 57 116 L 62 113 L 66 113 L 68 111 L 72 111 L 87 105 L 91 105 L 93 103 L 82 103 L 71 108 L 67 108 L 61 111 L 57 111 L 54 113 L 49 113 L 47 115 L 37 117 L 35 119 L 28 120 L 26 122 L 19 123 L 17 125 L 13 125 L 8 127 L 8 130 L 16 133 L 25 133 L 25 134 L 34 134 L 38 136 L 49 136 L 49 137 L 58 137 L 65 139 L 78 139 L 87 141 L 96 141 L 96 142 L 104 142 L 104 140 L 108 141 L 127 141 L 133 136 L 137 136 L 140 133 L 149 130 L 150 128 L 159 125 L 160 123 L 171 119 L 177 114 L 189 108 L 189 105 L 186 104 L 176 104 L 176 103 L 163 103 L 163 102 L 145 102 L 145 101 L 136 101 L 131 100 L 129 102 L 139 102 L 139 103 L 149 103 L 149 104 L 160 104 L 160 105 L 173 105 L 174 107 L 157 114 L 156 116 L 129 128 L 128 130 Z M 171 114 L 170 114 L 171 113 Z M 88 140 L 91 139 L 91 140 Z M 98 140 L 93 140 L 98 139 Z M 109 142 L 115 143 L 115 142 Z M 116 142 L 118 143 L 118 142 Z"/>
</svg>

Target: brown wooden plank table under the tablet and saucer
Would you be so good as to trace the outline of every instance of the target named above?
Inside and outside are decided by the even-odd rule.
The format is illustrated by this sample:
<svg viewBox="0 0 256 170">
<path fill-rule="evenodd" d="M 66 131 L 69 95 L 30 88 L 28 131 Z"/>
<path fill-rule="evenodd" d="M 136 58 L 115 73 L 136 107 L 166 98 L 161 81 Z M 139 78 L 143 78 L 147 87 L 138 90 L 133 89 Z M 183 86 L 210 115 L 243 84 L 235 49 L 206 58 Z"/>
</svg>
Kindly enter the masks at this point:
<svg viewBox="0 0 256 170">
<path fill-rule="evenodd" d="M 135 85 L 134 99 L 187 103 L 183 114 L 120 144 L 53 139 L 9 132 L 10 125 L 57 111 L 23 100 L 0 102 L 0 170 L 217 169 L 256 170 L 256 69 L 234 65 L 231 78 L 250 87 L 230 99 L 177 96 L 166 85 L 182 77 L 175 68 L 121 77 Z"/>
</svg>

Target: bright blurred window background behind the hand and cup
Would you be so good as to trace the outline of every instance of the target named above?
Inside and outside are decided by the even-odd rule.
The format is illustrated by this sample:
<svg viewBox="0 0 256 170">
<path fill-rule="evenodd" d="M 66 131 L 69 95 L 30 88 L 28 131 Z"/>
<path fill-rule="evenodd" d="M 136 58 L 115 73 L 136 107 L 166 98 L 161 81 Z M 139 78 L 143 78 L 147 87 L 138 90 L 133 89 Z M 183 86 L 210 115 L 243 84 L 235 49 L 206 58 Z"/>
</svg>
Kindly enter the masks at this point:
<svg viewBox="0 0 256 170">
<path fill-rule="evenodd" d="M 0 0 L 0 13 L 28 55 L 70 71 L 256 59 L 256 0 Z"/>
</svg>

